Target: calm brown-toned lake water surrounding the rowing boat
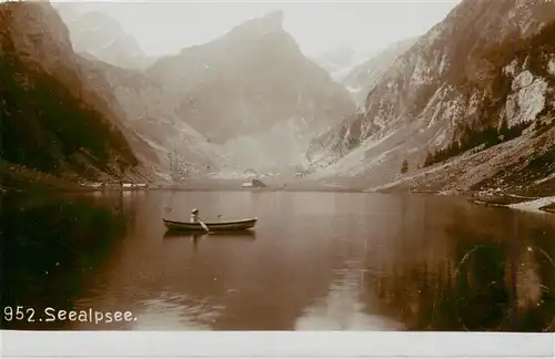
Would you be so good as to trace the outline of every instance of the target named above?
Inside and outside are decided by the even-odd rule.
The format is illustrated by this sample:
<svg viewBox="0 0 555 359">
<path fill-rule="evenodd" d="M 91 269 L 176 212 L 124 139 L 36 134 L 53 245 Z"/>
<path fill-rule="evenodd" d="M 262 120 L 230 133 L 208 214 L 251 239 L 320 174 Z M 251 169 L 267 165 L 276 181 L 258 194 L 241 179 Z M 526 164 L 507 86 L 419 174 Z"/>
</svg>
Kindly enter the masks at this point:
<svg viewBox="0 0 555 359">
<path fill-rule="evenodd" d="M 176 220 L 198 207 L 259 223 L 169 234 L 167 206 Z M 4 198 L 1 211 L 3 328 L 555 331 L 549 214 L 443 196 L 163 191 Z M 132 320 L 47 322 L 46 308 Z"/>
</svg>

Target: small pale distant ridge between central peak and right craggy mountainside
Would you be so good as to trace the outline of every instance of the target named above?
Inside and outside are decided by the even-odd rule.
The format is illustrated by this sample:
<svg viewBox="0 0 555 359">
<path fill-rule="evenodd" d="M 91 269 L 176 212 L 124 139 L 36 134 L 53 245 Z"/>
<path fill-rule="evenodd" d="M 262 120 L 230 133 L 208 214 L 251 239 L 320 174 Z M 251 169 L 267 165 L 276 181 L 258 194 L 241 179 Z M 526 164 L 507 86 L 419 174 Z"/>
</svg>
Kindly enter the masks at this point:
<svg viewBox="0 0 555 359">
<path fill-rule="evenodd" d="M 352 93 L 355 102 L 364 106 L 366 95 L 372 90 L 380 76 L 384 74 L 393 64 L 395 59 L 405 53 L 417 38 L 397 41 L 363 63 L 354 66 L 342 80 L 341 83 Z"/>
</svg>

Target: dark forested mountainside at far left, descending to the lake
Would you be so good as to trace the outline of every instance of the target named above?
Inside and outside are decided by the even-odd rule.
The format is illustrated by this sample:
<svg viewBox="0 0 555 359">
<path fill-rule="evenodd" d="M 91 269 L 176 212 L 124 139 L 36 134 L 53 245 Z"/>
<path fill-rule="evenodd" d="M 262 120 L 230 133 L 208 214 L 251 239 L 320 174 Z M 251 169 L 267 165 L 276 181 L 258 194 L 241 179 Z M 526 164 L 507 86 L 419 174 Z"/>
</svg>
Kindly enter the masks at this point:
<svg viewBox="0 0 555 359">
<path fill-rule="evenodd" d="M 84 94 L 68 31 L 43 7 L 0 4 L 2 186 L 52 176 L 129 178 L 138 158 L 108 105 Z"/>
</svg>

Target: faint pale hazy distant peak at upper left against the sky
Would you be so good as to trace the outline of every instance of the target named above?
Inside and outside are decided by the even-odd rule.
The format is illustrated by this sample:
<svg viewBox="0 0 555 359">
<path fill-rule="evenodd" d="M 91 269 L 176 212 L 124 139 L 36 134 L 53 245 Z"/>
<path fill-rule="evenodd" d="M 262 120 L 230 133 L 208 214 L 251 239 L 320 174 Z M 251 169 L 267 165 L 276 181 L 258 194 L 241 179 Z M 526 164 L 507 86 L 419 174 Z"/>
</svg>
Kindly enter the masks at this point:
<svg viewBox="0 0 555 359">
<path fill-rule="evenodd" d="M 147 55 L 137 39 L 101 11 L 87 11 L 81 3 L 57 3 L 69 28 L 73 50 L 82 57 L 123 69 L 145 69 L 157 58 Z"/>
</svg>

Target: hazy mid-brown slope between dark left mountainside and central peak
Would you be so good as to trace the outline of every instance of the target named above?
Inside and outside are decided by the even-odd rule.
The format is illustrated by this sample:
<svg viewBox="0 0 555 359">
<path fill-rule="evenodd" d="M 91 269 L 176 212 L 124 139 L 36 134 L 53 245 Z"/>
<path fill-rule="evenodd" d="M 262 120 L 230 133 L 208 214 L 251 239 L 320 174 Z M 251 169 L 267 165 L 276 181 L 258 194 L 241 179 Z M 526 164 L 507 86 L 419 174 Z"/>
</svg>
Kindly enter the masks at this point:
<svg viewBox="0 0 555 359">
<path fill-rule="evenodd" d="M 225 164 L 222 150 L 178 115 L 182 99 L 137 70 L 82 60 L 85 83 L 122 119 L 134 152 L 165 177 L 175 165 L 188 175 L 206 174 Z M 173 156 L 173 160 L 170 157 Z"/>
</svg>

